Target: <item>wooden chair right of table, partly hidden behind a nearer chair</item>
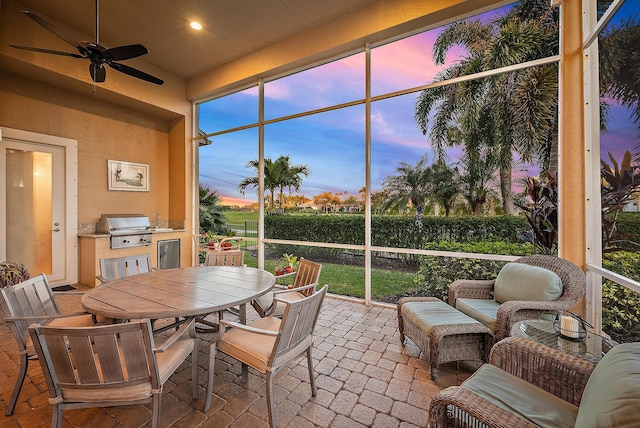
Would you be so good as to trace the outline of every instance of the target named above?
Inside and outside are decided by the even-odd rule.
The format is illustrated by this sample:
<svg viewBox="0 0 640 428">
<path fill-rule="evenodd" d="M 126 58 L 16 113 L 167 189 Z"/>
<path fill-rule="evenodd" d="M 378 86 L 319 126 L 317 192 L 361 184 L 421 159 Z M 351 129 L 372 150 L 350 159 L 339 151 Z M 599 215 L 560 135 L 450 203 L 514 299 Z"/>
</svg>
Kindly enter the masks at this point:
<svg viewBox="0 0 640 428">
<path fill-rule="evenodd" d="M 283 301 L 300 300 L 315 292 L 321 271 L 321 264 L 302 258 L 297 271 L 278 276 L 278 278 L 286 278 L 292 275 L 294 278 L 291 286 L 284 286 L 286 288 L 260 296 L 252 301 L 251 305 L 261 317 L 281 316 L 284 313 Z"/>
</svg>

